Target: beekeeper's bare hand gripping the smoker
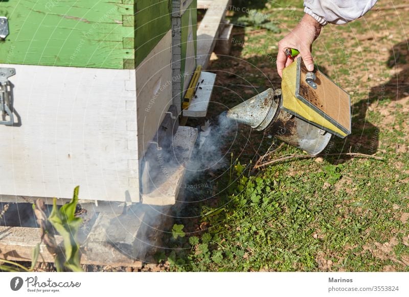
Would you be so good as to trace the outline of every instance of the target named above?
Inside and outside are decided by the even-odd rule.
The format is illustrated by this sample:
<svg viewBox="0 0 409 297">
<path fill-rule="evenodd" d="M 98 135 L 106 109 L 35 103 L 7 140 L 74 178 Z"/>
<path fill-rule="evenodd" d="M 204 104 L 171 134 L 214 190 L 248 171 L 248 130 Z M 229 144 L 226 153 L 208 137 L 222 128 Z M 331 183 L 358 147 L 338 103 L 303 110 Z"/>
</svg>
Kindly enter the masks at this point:
<svg viewBox="0 0 409 297">
<path fill-rule="evenodd" d="M 311 56 L 312 43 L 320 35 L 322 27 L 312 16 L 305 14 L 297 27 L 279 41 L 277 72 L 280 77 L 283 75 L 283 69 L 294 61 L 293 57 L 287 57 L 285 54 L 286 48 L 298 50 L 307 70 L 314 70 L 314 62 Z"/>
</svg>

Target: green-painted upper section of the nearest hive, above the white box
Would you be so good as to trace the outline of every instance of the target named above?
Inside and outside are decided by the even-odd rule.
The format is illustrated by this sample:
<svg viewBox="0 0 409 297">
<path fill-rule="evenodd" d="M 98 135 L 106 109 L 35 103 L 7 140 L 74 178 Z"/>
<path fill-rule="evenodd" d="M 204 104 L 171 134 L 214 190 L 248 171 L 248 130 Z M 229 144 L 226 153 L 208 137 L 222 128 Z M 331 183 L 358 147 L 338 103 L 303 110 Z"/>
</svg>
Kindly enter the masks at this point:
<svg viewBox="0 0 409 297">
<path fill-rule="evenodd" d="M 2 1 L 0 63 L 134 69 L 170 30 L 170 1 Z"/>
</svg>

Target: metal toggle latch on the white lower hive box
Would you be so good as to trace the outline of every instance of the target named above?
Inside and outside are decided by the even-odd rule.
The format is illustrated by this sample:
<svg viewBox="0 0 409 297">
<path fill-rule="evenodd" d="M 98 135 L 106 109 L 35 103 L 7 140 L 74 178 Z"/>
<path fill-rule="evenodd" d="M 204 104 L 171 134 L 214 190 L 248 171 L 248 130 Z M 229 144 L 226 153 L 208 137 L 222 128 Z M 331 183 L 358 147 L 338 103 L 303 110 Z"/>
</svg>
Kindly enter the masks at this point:
<svg viewBox="0 0 409 297">
<path fill-rule="evenodd" d="M 2 114 L 2 120 L 0 125 L 10 126 L 14 123 L 13 113 L 11 111 L 11 86 L 8 80 L 9 77 L 16 74 L 14 68 L 0 67 L 0 112 Z M 7 116 L 9 120 L 7 120 Z"/>
</svg>

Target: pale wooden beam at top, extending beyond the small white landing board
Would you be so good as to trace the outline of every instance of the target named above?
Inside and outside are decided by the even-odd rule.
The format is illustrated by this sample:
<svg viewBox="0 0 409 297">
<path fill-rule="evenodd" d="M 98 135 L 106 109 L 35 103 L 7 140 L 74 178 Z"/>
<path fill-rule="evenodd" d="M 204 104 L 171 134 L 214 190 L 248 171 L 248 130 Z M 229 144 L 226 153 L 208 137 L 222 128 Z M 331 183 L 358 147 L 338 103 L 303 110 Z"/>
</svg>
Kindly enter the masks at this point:
<svg viewBox="0 0 409 297">
<path fill-rule="evenodd" d="M 224 15 L 231 0 L 215 1 L 200 22 L 197 30 L 197 64 L 206 69 L 216 45 Z"/>
</svg>

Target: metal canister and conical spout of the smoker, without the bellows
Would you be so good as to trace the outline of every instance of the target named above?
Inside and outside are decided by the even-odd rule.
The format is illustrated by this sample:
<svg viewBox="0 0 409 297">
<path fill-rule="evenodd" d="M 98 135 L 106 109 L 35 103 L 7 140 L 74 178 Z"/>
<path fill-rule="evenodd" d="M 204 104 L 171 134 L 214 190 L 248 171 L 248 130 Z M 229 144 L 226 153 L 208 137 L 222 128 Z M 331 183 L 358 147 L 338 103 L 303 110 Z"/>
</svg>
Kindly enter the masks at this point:
<svg viewBox="0 0 409 297">
<path fill-rule="evenodd" d="M 281 89 L 267 89 L 230 109 L 226 117 L 257 131 L 266 130 L 311 155 L 324 151 L 332 134 L 286 112 L 281 100 Z"/>
</svg>

